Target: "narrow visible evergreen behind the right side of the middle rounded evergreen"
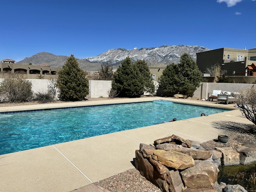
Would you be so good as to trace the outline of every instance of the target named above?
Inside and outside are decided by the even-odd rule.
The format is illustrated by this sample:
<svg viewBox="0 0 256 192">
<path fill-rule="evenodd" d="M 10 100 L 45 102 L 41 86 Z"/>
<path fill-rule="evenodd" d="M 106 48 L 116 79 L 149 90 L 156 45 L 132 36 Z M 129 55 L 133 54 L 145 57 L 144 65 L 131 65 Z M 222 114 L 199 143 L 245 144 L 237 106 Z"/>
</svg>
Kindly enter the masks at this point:
<svg viewBox="0 0 256 192">
<path fill-rule="evenodd" d="M 155 85 L 152 80 L 152 74 L 150 74 L 148 64 L 145 60 L 137 60 L 134 64 L 139 69 L 140 74 L 142 75 L 142 78 L 144 80 L 144 92 L 153 94 L 155 92 Z"/>
</svg>

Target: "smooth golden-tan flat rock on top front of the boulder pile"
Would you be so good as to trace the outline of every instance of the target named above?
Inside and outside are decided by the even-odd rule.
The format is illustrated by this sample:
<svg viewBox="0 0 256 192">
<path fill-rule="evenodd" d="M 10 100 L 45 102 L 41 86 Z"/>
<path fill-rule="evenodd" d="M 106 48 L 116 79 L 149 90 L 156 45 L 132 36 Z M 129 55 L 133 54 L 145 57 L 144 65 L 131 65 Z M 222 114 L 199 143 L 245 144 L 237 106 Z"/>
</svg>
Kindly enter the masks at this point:
<svg viewBox="0 0 256 192">
<path fill-rule="evenodd" d="M 161 164 L 176 170 L 183 170 L 195 164 L 192 156 L 177 151 L 155 150 L 153 158 Z"/>
</svg>

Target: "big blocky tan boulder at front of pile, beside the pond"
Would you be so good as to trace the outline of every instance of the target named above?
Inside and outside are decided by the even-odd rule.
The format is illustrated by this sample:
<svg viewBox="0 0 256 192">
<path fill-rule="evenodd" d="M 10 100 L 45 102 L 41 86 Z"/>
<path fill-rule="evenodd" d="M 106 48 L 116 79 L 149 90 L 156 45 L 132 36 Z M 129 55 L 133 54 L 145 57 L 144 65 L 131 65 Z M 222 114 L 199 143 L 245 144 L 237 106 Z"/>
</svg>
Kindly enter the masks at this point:
<svg viewBox="0 0 256 192">
<path fill-rule="evenodd" d="M 195 160 L 195 166 L 180 172 L 187 188 L 213 188 L 218 178 L 218 168 L 209 160 Z"/>
</svg>

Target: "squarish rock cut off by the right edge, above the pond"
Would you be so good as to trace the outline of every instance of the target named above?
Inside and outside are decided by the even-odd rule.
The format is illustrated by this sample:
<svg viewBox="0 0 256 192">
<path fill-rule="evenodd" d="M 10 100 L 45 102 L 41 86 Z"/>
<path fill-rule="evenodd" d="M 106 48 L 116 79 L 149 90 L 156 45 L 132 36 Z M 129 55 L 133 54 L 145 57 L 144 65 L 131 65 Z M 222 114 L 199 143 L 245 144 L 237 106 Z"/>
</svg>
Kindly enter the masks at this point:
<svg viewBox="0 0 256 192">
<path fill-rule="evenodd" d="M 248 143 L 236 149 L 240 154 L 240 164 L 246 165 L 256 162 L 256 144 Z"/>
</svg>

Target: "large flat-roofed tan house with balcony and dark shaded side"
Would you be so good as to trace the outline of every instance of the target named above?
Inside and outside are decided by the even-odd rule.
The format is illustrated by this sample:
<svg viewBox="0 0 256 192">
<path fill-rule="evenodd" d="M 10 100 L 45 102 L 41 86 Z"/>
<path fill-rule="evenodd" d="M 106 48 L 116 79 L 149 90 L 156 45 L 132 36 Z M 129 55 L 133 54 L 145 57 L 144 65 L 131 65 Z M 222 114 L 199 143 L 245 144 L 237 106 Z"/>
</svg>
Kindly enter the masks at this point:
<svg viewBox="0 0 256 192">
<path fill-rule="evenodd" d="M 202 74 L 207 68 L 218 64 L 227 76 L 247 76 L 247 66 L 256 63 L 256 48 L 233 49 L 220 48 L 196 54 L 196 63 Z"/>
</svg>

